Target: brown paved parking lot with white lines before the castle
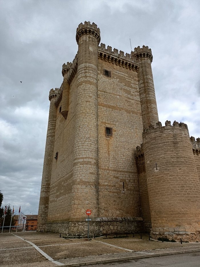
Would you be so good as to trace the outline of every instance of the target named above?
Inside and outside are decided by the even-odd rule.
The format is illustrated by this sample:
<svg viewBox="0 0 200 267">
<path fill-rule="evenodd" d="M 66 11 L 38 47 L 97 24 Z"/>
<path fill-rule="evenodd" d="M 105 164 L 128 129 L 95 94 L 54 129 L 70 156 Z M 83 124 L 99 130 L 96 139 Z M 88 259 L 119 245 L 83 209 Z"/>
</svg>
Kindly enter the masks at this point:
<svg viewBox="0 0 200 267">
<path fill-rule="evenodd" d="M 148 235 L 128 238 L 60 238 L 59 234 L 13 232 L 0 234 L 0 266 L 53 267 L 97 257 L 113 258 L 150 255 L 168 251 L 200 249 L 200 243 L 149 241 Z M 114 256 L 113 256 L 114 255 Z M 154 256 L 154 255 L 153 255 Z"/>
</svg>

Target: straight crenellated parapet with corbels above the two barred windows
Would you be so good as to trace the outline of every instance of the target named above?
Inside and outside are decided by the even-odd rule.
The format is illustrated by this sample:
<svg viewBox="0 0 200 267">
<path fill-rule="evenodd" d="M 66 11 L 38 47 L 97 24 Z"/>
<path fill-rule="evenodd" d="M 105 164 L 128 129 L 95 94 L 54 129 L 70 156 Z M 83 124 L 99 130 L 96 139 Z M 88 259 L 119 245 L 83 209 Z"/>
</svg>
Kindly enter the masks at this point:
<svg viewBox="0 0 200 267">
<path fill-rule="evenodd" d="M 118 49 L 115 48 L 112 51 L 111 46 L 107 46 L 106 49 L 104 43 L 101 43 L 101 46 L 98 47 L 98 58 L 136 72 L 139 70 L 138 62 L 132 60 L 130 54 L 126 53 L 124 55 L 124 51 L 118 51 Z"/>
</svg>

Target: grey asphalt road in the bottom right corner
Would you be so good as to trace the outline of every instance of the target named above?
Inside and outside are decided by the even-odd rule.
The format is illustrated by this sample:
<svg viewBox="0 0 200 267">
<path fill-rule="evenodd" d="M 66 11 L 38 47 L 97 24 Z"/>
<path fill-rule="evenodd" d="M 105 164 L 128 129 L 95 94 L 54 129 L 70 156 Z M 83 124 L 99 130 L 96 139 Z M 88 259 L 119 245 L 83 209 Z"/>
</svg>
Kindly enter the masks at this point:
<svg viewBox="0 0 200 267">
<path fill-rule="evenodd" d="M 139 260 L 125 260 L 121 262 L 101 263 L 91 267 L 200 267 L 200 252 L 173 254 L 161 257 L 144 258 Z"/>
</svg>

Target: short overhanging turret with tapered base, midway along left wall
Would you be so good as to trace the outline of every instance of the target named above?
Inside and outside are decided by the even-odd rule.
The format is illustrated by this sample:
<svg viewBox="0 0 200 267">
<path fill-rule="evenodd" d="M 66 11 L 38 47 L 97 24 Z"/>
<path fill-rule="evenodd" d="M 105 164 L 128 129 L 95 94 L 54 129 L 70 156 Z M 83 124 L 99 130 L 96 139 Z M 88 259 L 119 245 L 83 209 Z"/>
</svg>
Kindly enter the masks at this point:
<svg viewBox="0 0 200 267">
<path fill-rule="evenodd" d="M 63 64 L 62 75 L 63 75 L 63 95 L 62 95 L 62 111 L 61 114 L 65 119 L 67 119 L 67 114 L 69 111 L 69 83 L 67 82 L 67 77 L 72 63 L 67 62 L 67 65 Z"/>
</svg>

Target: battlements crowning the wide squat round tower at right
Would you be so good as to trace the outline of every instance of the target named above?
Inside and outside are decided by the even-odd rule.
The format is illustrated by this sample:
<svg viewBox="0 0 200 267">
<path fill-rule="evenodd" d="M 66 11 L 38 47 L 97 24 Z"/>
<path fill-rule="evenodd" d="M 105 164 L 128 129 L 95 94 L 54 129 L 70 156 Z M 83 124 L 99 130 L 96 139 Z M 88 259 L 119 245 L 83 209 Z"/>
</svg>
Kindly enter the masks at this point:
<svg viewBox="0 0 200 267">
<path fill-rule="evenodd" d="M 143 131 L 143 138 L 145 138 L 145 136 L 152 134 L 152 133 L 155 133 L 157 131 L 164 132 L 165 130 L 168 130 L 168 131 L 169 130 L 171 130 L 171 131 L 182 130 L 182 131 L 185 131 L 185 134 L 187 136 L 189 136 L 187 124 L 185 124 L 183 122 L 178 123 L 177 121 L 174 121 L 173 124 L 171 125 L 171 121 L 167 120 L 167 121 L 165 121 L 165 126 L 162 126 L 162 123 L 160 121 L 158 121 L 156 123 L 156 126 L 149 125 L 149 128 L 147 128 Z"/>
</svg>

